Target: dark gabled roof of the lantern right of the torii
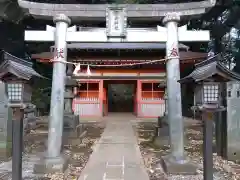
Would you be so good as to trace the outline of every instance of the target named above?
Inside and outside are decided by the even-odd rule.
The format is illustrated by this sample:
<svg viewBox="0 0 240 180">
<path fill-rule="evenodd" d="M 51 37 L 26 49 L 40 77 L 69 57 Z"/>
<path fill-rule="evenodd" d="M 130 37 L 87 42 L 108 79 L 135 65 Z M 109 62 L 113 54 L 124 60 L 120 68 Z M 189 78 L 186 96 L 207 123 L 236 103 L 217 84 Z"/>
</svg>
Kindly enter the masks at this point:
<svg viewBox="0 0 240 180">
<path fill-rule="evenodd" d="M 211 77 L 220 77 L 223 81 L 240 81 L 240 75 L 226 68 L 221 60 L 221 54 L 215 55 L 195 65 L 195 70 L 188 76 L 180 79 L 180 83 L 199 82 Z"/>
</svg>

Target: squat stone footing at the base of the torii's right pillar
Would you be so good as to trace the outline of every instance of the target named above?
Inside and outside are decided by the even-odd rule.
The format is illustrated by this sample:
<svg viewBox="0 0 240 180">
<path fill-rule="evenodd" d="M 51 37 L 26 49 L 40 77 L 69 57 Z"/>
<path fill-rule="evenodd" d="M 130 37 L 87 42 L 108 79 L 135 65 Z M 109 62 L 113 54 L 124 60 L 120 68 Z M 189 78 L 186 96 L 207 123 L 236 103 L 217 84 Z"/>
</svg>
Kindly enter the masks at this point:
<svg viewBox="0 0 240 180">
<path fill-rule="evenodd" d="M 191 163 L 188 158 L 177 161 L 171 155 L 162 157 L 162 167 L 167 174 L 195 175 L 197 166 Z"/>
</svg>

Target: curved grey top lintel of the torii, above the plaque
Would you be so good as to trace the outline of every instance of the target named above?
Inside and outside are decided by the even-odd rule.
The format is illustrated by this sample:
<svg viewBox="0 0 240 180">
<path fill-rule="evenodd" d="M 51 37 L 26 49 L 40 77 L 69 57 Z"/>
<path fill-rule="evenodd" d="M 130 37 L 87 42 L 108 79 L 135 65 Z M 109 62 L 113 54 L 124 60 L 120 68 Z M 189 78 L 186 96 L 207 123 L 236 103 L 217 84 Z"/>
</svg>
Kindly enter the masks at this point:
<svg viewBox="0 0 240 180">
<path fill-rule="evenodd" d="M 111 6 L 109 4 L 36 3 L 27 0 L 18 0 L 18 4 L 23 9 L 28 10 L 29 14 L 34 17 L 52 19 L 56 14 L 63 13 L 72 21 L 94 18 L 104 19 L 106 9 Z M 161 20 L 169 12 L 178 12 L 182 17 L 203 14 L 215 4 L 216 0 L 204 0 L 176 4 L 119 4 L 118 6 L 126 8 L 129 19 L 146 18 L 151 21 L 152 18 Z"/>
</svg>

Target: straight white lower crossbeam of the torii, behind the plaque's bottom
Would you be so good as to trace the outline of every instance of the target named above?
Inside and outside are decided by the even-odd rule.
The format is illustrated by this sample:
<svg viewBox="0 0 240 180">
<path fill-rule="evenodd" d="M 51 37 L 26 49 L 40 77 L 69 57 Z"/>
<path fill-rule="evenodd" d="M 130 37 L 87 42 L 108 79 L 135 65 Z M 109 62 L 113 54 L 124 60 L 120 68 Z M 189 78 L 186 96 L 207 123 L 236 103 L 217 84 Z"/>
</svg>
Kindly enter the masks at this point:
<svg viewBox="0 0 240 180">
<path fill-rule="evenodd" d="M 97 31 L 77 31 L 76 26 L 68 28 L 67 42 L 111 42 L 106 35 L 106 29 Z M 25 41 L 54 42 L 55 28 L 47 26 L 45 31 L 25 31 Z M 187 26 L 178 28 L 178 40 L 180 42 L 204 42 L 210 40 L 209 31 L 187 30 Z M 128 28 L 124 42 L 167 42 L 167 29 L 158 26 L 155 31 L 143 31 L 141 28 Z"/>
</svg>

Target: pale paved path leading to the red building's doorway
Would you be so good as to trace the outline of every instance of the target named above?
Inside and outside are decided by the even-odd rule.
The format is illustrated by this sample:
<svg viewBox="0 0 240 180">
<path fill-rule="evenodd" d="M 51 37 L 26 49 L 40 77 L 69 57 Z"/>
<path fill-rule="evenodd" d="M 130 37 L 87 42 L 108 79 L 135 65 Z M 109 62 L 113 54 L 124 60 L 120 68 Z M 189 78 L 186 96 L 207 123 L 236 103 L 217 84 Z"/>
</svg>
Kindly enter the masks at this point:
<svg viewBox="0 0 240 180">
<path fill-rule="evenodd" d="M 129 121 L 107 121 L 78 180 L 149 180 Z"/>
</svg>

